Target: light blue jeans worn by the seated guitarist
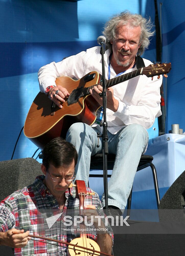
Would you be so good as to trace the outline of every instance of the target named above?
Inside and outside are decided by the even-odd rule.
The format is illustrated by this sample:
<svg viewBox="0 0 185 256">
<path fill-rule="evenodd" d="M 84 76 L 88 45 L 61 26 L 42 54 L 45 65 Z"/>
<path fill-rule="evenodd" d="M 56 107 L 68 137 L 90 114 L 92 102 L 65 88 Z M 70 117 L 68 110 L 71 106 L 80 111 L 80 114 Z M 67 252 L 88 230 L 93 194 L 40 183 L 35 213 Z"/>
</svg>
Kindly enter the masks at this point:
<svg viewBox="0 0 185 256">
<path fill-rule="evenodd" d="M 71 125 L 66 135 L 66 141 L 71 142 L 78 152 L 76 179 L 84 180 L 86 185 L 89 178 L 90 157 L 102 153 L 102 139 L 97 138 L 98 130 L 85 123 Z M 125 209 L 130 195 L 134 176 L 142 153 L 148 143 L 148 133 L 139 124 L 131 124 L 122 128 L 117 134 L 108 131 L 109 153 L 116 154 L 111 178 L 108 182 L 108 205 Z M 105 198 L 102 196 L 105 206 Z"/>
</svg>

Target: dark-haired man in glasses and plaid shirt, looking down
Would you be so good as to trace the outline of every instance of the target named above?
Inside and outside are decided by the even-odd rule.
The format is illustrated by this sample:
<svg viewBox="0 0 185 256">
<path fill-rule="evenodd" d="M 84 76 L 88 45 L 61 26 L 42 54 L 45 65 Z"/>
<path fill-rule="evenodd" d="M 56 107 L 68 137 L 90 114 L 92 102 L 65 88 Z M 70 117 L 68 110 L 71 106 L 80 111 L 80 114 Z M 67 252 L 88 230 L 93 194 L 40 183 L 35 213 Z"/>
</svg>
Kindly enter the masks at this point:
<svg viewBox="0 0 185 256">
<path fill-rule="evenodd" d="M 67 210 L 78 210 L 79 212 L 79 199 L 76 197 L 76 190 L 70 186 L 75 178 L 77 158 L 75 147 L 61 137 L 54 138 L 44 147 L 41 164 L 44 175 L 38 176 L 33 184 L 14 192 L 0 203 L 0 245 L 14 248 L 14 254 L 17 256 L 67 255 L 66 246 L 52 245 L 43 240 L 30 240 L 29 234 L 39 235 L 40 211 L 44 211 L 45 214 L 47 209 L 56 210 L 56 212 L 60 209 L 62 212 Z M 97 214 L 95 209 L 102 209 L 102 204 L 96 193 L 93 193 L 90 188 L 86 188 L 86 190 L 93 194 L 87 195 L 85 198 L 86 213 L 84 215 L 89 218 L 89 216 Z M 93 212 L 91 212 L 92 210 Z M 95 222 L 94 225 L 96 226 Z M 101 225 L 105 227 L 102 222 Z M 13 234 L 12 231 L 21 233 Z M 48 233 L 48 236 L 64 242 L 70 242 L 79 236 L 79 232 L 63 232 L 58 229 L 58 226 L 55 232 L 51 232 L 51 237 Z M 100 251 L 111 254 L 113 233 L 110 229 L 99 234 L 90 232 L 88 236 L 96 240 Z"/>
</svg>

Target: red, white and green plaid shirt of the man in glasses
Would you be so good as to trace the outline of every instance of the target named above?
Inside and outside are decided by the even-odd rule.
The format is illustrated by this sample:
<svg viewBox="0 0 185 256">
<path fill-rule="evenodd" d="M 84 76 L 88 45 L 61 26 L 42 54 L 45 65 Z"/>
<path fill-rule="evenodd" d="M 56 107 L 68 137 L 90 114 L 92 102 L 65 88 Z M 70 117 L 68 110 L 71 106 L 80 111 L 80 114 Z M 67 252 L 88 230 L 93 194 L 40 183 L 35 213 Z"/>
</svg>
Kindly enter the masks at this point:
<svg viewBox="0 0 185 256">
<path fill-rule="evenodd" d="M 51 232 L 46 234 L 44 229 L 38 233 L 38 226 L 40 225 L 40 212 L 47 209 L 58 209 L 59 205 L 55 197 L 50 193 L 49 189 L 43 184 L 44 175 L 38 176 L 34 183 L 28 187 L 18 190 L 5 198 L 0 204 L 0 231 L 6 232 L 9 229 L 24 229 L 30 230 L 30 234 L 46 236 L 56 240 L 71 242 L 72 239 L 79 236 L 76 232 Z M 87 192 L 93 192 L 90 188 L 86 188 Z M 79 199 L 76 198 L 76 191 L 74 187 L 65 191 L 66 202 L 63 211 L 68 209 L 76 209 L 79 212 Z M 99 196 L 87 195 L 85 198 L 86 205 L 94 205 L 96 209 L 102 209 Z M 47 212 L 47 211 L 45 211 Z M 56 210 L 57 212 L 57 210 Z M 113 239 L 113 233 L 108 231 Z M 96 240 L 96 233 L 89 234 L 91 239 Z M 47 242 L 42 239 L 31 239 L 23 248 L 15 248 L 14 254 L 16 256 L 61 256 L 67 255 L 67 247 L 64 245 L 56 246 L 55 242 Z"/>
</svg>

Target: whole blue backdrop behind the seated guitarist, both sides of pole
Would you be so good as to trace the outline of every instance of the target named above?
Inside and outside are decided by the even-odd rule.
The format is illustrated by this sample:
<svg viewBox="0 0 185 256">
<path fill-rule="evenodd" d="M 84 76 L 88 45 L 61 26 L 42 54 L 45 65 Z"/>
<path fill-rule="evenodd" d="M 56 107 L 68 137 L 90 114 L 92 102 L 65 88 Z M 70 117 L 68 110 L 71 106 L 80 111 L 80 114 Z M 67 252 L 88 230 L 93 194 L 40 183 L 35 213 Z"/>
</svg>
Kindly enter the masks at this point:
<svg viewBox="0 0 185 256">
<path fill-rule="evenodd" d="M 184 99 L 184 14 L 183 1 L 157 1 L 162 5 L 162 61 L 172 62 L 165 90 L 167 103 L 166 131 L 172 123 L 185 129 Z M 1 83 L 1 148 L 0 161 L 11 158 L 18 134 L 24 125 L 30 105 L 39 92 L 37 72 L 52 61 L 97 45 L 106 20 L 128 9 L 155 19 L 154 1 L 82 0 L 21 1 L 0 0 L 0 83 Z M 103 12 L 101 9 L 103 7 Z M 156 61 L 155 37 L 144 58 Z M 165 82 L 164 82 L 164 85 Z M 156 130 L 154 129 L 156 128 Z M 158 135 L 157 121 L 150 138 Z M 37 149 L 22 133 L 15 158 L 31 157 Z"/>
</svg>

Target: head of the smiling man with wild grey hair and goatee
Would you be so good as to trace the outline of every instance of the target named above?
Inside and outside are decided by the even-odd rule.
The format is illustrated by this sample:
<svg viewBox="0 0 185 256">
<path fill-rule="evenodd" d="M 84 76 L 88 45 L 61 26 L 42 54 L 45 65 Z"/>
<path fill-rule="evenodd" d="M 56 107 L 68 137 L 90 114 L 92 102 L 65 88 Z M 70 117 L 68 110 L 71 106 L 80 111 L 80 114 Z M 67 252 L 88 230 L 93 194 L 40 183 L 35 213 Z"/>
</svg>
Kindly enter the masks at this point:
<svg viewBox="0 0 185 256">
<path fill-rule="evenodd" d="M 151 28 L 151 20 L 147 20 L 139 14 L 122 12 L 112 17 L 106 23 L 103 31 L 103 35 L 107 40 L 107 49 L 110 49 L 111 53 L 114 52 L 112 62 L 114 61 L 114 63 L 116 62 L 115 65 L 122 67 L 132 66 L 135 62 L 136 54 L 140 56 L 148 48 L 149 38 L 154 34 Z M 126 42 L 123 38 L 126 35 L 130 36 L 132 40 L 127 40 Z M 123 44 L 124 47 L 122 47 Z M 117 54 L 115 54 L 116 49 L 118 51 Z M 119 57 L 120 54 L 125 57 Z M 122 70 L 122 68 L 119 70 Z"/>
</svg>

